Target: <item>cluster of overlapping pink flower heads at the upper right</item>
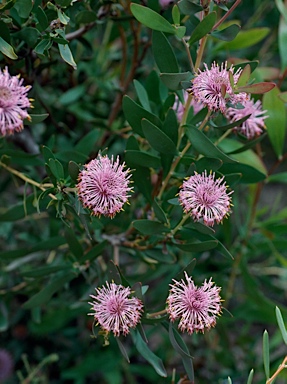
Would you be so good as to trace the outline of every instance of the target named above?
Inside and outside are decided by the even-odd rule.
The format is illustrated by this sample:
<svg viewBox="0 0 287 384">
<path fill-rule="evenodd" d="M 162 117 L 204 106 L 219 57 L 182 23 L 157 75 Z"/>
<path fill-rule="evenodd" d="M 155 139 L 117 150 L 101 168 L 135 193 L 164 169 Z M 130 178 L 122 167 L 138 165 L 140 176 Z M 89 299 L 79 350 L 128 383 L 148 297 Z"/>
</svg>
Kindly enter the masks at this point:
<svg viewBox="0 0 287 384">
<path fill-rule="evenodd" d="M 194 114 L 203 107 L 207 107 L 210 111 L 221 112 L 230 123 L 250 115 L 247 120 L 234 127 L 233 130 L 246 136 L 247 139 L 259 136 L 265 128 L 264 120 L 268 116 L 264 114 L 267 111 L 262 110 L 260 100 L 255 102 L 245 92 L 234 93 L 230 83 L 230 76 L 232 76 L 234 85 L 237 84 L 242 69 L 239 68 L 234 73 L 234 67 L 231 66 L 227 69 L 227 63 L 222 63 L 221 66 L 213 63 L 210 69 L 206 64 L 204 67 L 205 71 L 198 70 L 189 90 L 194 96 L 191 102 Z M 186 102 L 187 97 L 188 92 L 185 92 L 184 102 Z M 181 121 L 185 109 L 184 105 L 179 103 L 178 98 L 176 98 L 174 109 Z"/>
</svg>

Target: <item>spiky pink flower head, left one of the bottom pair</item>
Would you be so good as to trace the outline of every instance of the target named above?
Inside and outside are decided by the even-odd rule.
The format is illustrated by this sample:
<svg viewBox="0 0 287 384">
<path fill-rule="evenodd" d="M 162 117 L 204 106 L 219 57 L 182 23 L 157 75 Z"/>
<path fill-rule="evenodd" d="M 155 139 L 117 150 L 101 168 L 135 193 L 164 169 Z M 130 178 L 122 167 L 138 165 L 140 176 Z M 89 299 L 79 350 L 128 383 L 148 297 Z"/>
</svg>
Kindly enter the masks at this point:
<svg viewBox="0 0 287 384">
<path fill-rule="evenodd" d="M 115 283 L 96 288 L 96 295 L 90 295 L 94 301 L 93 313 L 97 323 L 106 332 L 113 332 L 114 336 L 127 335 L 130 328 L 135 328 L 140 322 L 143 303 L 137 297 L 131 297 L 131 289 Z"/>
</svg>

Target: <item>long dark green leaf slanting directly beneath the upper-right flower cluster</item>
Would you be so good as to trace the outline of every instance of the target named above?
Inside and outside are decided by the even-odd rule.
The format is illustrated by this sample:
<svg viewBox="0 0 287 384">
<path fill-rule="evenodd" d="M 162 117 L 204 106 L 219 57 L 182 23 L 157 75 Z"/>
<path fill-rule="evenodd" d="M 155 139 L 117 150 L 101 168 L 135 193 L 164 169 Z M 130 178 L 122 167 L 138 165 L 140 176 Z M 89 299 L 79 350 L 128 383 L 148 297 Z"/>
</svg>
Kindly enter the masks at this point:
<svg viewBox="0 0 287 384">
<path fill-rule="evenodd" d="M 229 156 L 225 155 L 218 147 L 216 147 L 212 141 L 196 127 L 192 125 L 186 126 L 186 134 L 189 138 L 191 145 L 198 151 L 200 154 L 203 154 L 207 157 L 215 157 L 221 159 L 223 162 L 235 163 L 236 160 L 231 159 Z"/>
</svg>

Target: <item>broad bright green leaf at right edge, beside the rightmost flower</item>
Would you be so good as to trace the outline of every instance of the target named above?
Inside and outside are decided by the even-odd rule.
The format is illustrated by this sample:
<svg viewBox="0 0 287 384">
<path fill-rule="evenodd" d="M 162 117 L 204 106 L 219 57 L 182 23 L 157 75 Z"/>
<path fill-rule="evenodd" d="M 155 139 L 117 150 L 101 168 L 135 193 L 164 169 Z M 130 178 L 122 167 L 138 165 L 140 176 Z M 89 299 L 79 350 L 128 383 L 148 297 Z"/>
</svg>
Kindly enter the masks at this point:
<svg viewBox="0 0 287 384">
<path fill-rule="evenodd" d="M 286 108 L 280 100 L 279 89 L 275 87 L 263 96 L 263 109 L 268 111 L 268 119 L 265 120 L 269 139 L 272 147 L 280 158 L 283 153 L 286 134 Z"/>
</svg>

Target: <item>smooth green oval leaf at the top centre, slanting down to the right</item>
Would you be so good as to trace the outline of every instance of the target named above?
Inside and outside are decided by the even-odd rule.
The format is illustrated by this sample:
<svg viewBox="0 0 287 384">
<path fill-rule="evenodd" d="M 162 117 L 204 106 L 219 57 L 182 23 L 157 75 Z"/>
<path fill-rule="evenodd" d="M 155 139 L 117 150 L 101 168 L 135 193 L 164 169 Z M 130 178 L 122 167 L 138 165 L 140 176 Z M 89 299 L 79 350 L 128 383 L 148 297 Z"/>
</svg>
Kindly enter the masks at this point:
<svg viewBox="0 0 287 384">
<path fill-rule="evenodd" d="M 131 3 L 130 10 L 134 17 L 146 27 L 156 31 L 176 34 L 176 28 L 164 17 L 143 5 Z"/>
</svg>

